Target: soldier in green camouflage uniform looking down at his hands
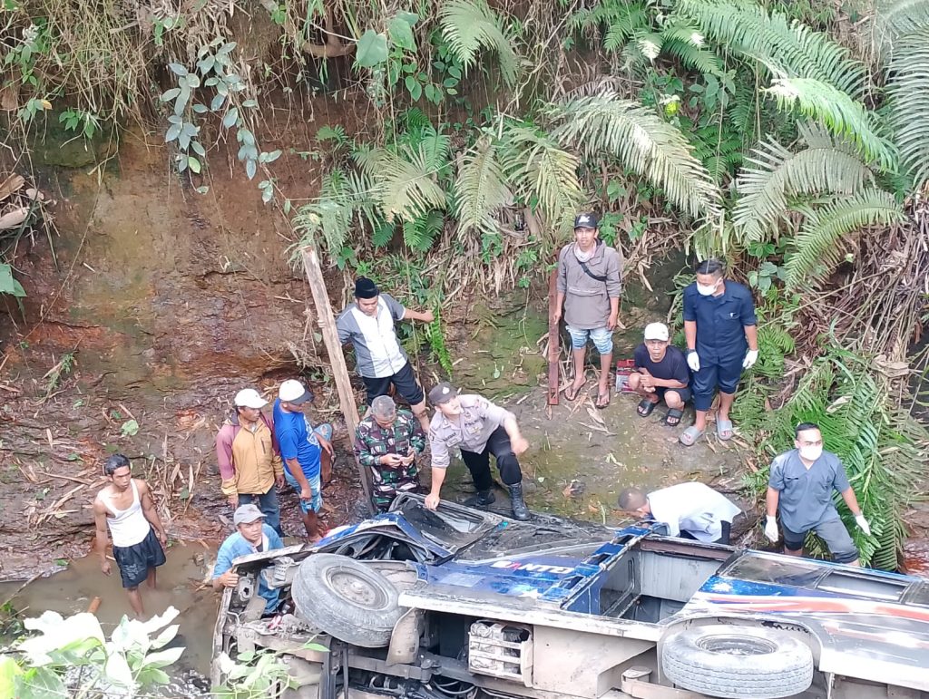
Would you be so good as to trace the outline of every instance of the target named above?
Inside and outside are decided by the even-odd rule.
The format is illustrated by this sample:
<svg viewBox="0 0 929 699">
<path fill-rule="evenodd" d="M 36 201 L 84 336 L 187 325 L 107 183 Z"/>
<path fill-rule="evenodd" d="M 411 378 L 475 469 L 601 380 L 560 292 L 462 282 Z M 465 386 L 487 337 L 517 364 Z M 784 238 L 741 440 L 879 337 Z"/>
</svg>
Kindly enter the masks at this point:
<svg viewBox="0 0 929 699">
<path fill-rule="evenodd" d="M 398 411 L 389 395 L 373 399 L 369 414 L 358 424 L 355 454 L 371 469 L 378 511 L 386 511 L 398 493 L 419 488 L 416 455 L 424 448 L 423 428 L 411 413 Z"/>
</svg>

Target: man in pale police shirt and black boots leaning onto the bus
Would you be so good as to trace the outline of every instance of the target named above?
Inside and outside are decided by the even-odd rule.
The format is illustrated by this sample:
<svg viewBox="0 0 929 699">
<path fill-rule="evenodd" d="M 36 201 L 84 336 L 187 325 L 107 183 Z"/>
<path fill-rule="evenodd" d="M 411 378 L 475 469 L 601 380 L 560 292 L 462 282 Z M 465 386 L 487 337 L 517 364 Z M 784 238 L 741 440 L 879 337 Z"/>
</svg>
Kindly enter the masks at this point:
<svg viewBox="0 0 929 699">
<path fill-rule="evenodd" d="M 496 499 L 491 490 L 493 454 L 500 479 L 510 489 L 514 518 L 528 520 L 529 508 L 523 499 L 517 455 L 529 448 L 529 442 L 519 432 L 516 416 L 480 395 L 458 395 L 448 382 L 439 383 L 429 392 L 429 402 L 435 406 L 436 414 L 429 427 L 432 488 L 425 506 L 430 510 L 438 507 L 438 493 L 451 462 L 451 449 L 458 447 L 478 488 L 478 497 L 469 504 L 486 506 Z"/>
</svg>

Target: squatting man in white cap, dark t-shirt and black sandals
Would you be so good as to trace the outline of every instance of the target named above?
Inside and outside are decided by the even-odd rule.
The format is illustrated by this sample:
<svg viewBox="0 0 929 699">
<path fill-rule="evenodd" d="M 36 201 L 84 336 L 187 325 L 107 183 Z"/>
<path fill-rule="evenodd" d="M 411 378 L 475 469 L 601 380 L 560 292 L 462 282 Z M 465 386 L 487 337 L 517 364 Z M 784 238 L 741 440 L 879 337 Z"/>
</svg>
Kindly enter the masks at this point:
<svg viewBox="0 0 929 699">
<path fill-rule="evenodd" d="M 690 400 L 690 372 L 684 353 L 669 342 L 670 333 L 664 323 L 649 323 L 645 342 L 635 348 L 635 372 L 629 375 L 629 388 L 642 396 L 638 414 L 648 418 L 663 400 L 668 406 L 665 424 L 680 424 L 684 406 Z"/>
</svg>

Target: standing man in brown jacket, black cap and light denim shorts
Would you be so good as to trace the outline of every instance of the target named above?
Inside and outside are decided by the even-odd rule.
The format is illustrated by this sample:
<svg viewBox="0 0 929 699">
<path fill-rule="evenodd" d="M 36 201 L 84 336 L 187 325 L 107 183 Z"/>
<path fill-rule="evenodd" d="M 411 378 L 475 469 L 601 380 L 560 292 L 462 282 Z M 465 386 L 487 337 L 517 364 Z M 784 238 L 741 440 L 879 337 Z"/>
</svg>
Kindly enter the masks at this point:
<svg viewBox="0 0 929 699">
<path fill-rule="evenodd" d="M 609 368 L 613 363 L 613 330 L 620 312 L 622 258 L 599 239 L 594 214 L 574 219 L 574 242 L 558 254 L 556 320 L 565 308 L 565 323 L 571 336 L 574 382 L 565 391 L 568 400 L 581 393 L 586 376 L 583 368 L 588 338 L 600 353 L 600 380 L 596 407 L 609 405 Z"/>
</svg>

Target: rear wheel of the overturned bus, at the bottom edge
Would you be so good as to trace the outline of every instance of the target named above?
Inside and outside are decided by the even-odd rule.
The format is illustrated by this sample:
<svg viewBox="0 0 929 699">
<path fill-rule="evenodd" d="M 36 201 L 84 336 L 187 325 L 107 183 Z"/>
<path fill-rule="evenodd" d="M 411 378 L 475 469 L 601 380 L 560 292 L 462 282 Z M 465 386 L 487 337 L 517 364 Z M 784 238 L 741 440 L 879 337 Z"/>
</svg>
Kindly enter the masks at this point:
<svg viewBox="0 0 929 699">
<path fill-rule="evenodd" d="M 726 699 L 779 699 L 813 683 L 813 654 L 803 641 L 768 628 L 717 624 L 669 635 L 661 669 L 674 684 Z"/>
</svg>

